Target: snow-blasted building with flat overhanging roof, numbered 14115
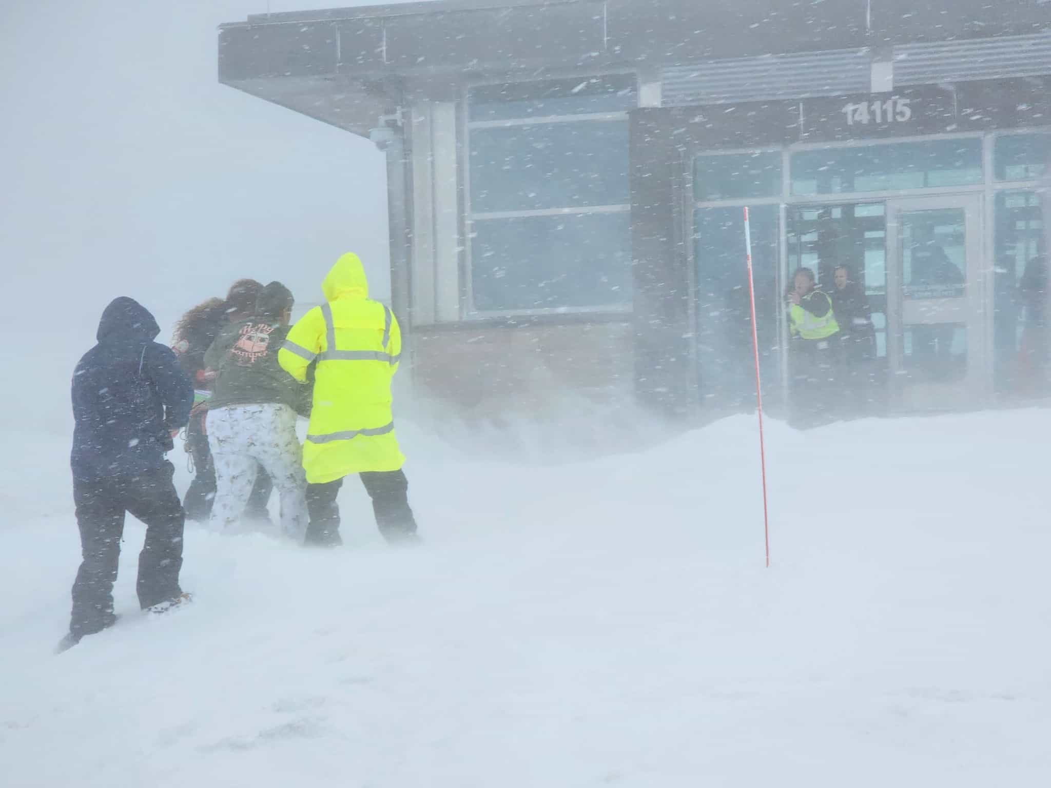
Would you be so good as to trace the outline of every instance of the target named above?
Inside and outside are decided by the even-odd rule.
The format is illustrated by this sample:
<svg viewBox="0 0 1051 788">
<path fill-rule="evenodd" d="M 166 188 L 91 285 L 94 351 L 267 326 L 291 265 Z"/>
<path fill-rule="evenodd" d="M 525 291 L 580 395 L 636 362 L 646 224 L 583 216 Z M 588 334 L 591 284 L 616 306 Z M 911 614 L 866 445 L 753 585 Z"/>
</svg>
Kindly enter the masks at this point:
<svg viewBox="0 0 1051 788">
<path fill-rule="evenodd" d="M 392 306 L 431 396 L 747 407 L 744 206 L 772 407 L 800 267 L 864 288 L 887 408 L 1043 393 L 1024 351 L 1048 296 L 1049 2 L 260 15 L 221 28 L 220 80 L 387 152 Z"/>
</svg>

